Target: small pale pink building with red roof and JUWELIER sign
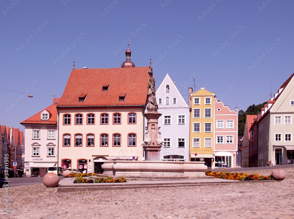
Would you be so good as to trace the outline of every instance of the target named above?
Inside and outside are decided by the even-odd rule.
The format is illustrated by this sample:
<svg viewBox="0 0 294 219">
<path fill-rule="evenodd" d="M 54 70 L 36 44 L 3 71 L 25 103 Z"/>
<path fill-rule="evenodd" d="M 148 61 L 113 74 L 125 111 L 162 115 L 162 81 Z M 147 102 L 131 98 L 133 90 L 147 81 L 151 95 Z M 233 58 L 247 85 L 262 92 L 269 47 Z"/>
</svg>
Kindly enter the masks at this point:
<svg viewBox="0 0 294 219">
<path fill-rule="evenodd" d="M 26 176 L 44 176 L 47 168 L 57 166 L 57 103 L 21 122 L 25 126 Z"/>
</svg>

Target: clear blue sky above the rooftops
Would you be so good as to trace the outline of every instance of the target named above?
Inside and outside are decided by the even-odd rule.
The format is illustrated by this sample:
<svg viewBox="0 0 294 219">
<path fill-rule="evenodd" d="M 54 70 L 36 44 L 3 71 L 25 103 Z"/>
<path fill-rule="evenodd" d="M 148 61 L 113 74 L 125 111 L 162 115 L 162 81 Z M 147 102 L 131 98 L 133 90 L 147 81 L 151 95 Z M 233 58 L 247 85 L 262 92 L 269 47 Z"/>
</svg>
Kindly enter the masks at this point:
<svg viewBox="0 0 294 219">
<path fill-rule="evenodd" d="M 1 1 L 0 88 L 35 95 L 0 90 L 0 123 L 24 131 L 21 121 L 61 97 L 73 60 L 119 68 L 128 38 L 137 67 L 151 56 L 156 88 L 168 73 L 188 101 L 195 78 L 196 90 L 245 111 L 270 98 L 271 79 L 275 93 L 294 71 L 293 8 L 290 0 Z"/>
</svg>

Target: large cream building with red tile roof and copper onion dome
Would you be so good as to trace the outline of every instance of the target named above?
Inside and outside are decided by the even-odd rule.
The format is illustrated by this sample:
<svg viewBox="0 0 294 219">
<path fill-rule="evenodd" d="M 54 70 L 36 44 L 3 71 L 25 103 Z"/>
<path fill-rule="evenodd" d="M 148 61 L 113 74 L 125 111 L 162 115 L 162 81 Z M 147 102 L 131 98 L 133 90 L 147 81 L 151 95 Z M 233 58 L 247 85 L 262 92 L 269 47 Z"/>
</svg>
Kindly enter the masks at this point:
<svg viewBox="0 0 294 219">
<path fill-rule="evenodd" d="M 101 172 L 103 160 L 142 159 L 149 66 L 74 69 L 57 105 L 59 165 Z M 79 168 L 79 166 L 81 168 Z"/>
</svg>

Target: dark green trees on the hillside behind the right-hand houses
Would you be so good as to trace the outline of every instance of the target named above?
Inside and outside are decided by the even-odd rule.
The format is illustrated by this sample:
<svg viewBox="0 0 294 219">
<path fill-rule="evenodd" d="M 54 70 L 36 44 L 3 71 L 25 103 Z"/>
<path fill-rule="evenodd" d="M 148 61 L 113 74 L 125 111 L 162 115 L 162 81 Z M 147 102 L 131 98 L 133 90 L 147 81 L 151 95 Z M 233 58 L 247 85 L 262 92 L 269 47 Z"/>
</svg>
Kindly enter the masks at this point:
<svg viewBox="0 0 294 219">
<path fill-rule="evenodd" d="M 264 104 L 268 102 L 260 103 L 255 106 L 255 104 L 248 106 L 247 110 L 244 112 L 240 110 L 238 113 L 238 136 L 244 135 L 246 115 L 257 115 L 261 112 L 261 108 L 264 107 Z"/>
</svg>

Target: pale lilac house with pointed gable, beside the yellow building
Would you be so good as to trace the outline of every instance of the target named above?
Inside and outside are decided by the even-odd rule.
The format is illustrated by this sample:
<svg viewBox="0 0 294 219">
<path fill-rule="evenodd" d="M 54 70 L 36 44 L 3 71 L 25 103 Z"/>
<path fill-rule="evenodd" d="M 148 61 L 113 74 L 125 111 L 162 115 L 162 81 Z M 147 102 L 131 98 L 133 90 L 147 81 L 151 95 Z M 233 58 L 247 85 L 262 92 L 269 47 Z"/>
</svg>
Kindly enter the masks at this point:
<svg viewBox="0 0 294 219">
<path fill-rule="evenodd" d="M 189 161 L 189 106 L 168 74 L 158 86 L 156 98 L 157 111 L 162 114 L 158 118 L 158 127 L 161 127 L 163 140 L 160 151 L 161 160 Z"/>
</svg>

